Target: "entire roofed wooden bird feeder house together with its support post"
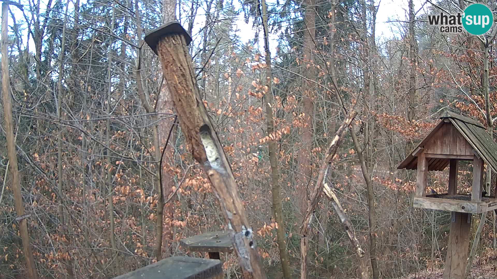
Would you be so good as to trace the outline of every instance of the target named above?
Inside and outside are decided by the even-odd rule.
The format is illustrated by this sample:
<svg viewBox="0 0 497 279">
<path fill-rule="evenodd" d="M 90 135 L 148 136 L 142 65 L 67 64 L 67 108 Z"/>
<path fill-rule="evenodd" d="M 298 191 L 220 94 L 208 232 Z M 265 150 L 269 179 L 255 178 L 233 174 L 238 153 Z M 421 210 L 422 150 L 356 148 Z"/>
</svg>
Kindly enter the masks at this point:
<svg viewBox="0 0 497 279">
<path fill-rule="evenodd" d="M 463 279 L 471 215 L 497 209 L 497 186 L 494 196 L 482 197 L 484 163 L 497 172 L 497 144 L 476 120 L 452 112 L 445 112 L 440 119 L 440 123 L 398 168 L 417 171 L 413 198 L 415 208 L 452 212 L 444 279 Z M 457 193 L 460 160 L 473 161 L 473 183 L 469 195 Z M 428 171 L 441 171 L 447 166 L 447 193 L 426 195 Z"/>
</svg>

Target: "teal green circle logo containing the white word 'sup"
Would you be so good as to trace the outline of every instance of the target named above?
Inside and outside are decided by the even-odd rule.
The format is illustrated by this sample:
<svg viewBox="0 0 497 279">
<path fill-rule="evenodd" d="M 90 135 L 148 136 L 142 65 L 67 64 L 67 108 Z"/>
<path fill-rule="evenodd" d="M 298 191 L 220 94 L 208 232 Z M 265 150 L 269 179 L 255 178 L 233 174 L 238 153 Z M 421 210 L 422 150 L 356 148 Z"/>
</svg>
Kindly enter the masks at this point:
<svg viewBox="0 0 497 279">
<path fill-rule="evenodd" d="M 487 33 L 492 27 L 492 23 L 494 23 L 492 11 L 484 4 L 471 4 L 467 6 L 463 17 L 464 29 L 473 35 Z"/>
</svg>

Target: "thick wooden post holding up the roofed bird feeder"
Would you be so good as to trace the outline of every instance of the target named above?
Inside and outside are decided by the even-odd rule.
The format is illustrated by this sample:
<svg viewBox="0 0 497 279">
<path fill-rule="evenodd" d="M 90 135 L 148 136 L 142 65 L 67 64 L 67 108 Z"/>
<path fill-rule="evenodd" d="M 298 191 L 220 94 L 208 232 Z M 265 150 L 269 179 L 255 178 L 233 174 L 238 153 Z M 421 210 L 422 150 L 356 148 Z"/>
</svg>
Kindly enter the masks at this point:
<svg viewBox="0 0 497 279">
<path fill-rule="evenodd" d="M 455 216 L 450 222 L 449 243 L 443 279 L 464 279 L 468 258 L 471 214 L 452 212 Z"/>
</svg>

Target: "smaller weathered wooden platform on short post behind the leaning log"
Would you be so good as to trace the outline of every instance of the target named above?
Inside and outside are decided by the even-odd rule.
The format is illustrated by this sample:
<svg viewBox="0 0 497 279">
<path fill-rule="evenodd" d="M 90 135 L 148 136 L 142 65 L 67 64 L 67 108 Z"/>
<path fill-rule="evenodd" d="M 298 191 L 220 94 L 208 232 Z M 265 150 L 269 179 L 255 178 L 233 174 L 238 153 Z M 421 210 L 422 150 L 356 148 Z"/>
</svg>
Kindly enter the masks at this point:
<svg viewBox="0 0 497 279">
<path fill-rule="evenodd" d="M 208 252 L 209 258 L 219 259 L 219 253 L 233 251 L 233 244 L 228 232 L 206 232 L 182 239 L 181 246 L 191 252 Z"/>
</svg>

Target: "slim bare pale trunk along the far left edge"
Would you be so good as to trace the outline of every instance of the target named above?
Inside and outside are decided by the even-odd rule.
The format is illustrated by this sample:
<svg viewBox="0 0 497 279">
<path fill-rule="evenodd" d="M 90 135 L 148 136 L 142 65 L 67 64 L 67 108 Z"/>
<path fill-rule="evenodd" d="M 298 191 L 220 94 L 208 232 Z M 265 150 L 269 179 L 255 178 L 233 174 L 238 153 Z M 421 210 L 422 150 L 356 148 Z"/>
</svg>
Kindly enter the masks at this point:
<svg viewBox="0 0 497 279">
<path fill-rule="evenodd" d="M 20 173 L 17 166 L 17 154 L 15 150 L 15 139 L 12 120 L 12 100 L 10 98 L 10 76 L 8 70 L 8 2 L 2 3 L 1 14 L 1 70 L 3 113 L 5 118 L 5 138 L 7 139 L 7 152 L 8 160 L 10 162 L 10 173 L 12 173 L 12 191 L 14 192 L 15 211 L 17 212 L 17 216 L 22 216 L 24 215 L 24 204 L 22 202 Z M 19 220 L 18 223 L 29 277 L 30 279 L 37 279 L 38 274 L 36 272 L 36 263 L 34 261 L 33 252 L 31 251 L 30 246 L 27 218 Z"/>
</svg>

